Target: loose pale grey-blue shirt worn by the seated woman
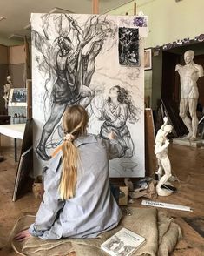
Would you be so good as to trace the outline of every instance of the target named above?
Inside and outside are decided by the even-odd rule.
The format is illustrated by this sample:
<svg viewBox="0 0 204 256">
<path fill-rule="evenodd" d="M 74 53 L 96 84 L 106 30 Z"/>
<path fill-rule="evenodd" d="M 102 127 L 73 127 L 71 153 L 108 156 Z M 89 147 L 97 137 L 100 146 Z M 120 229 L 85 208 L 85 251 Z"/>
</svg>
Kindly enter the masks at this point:
<svg viewBox="0 0 204 256">
<path fill-rule="evenodd" d="M 36 221 L 30 226 L 33 236 L 95 238 L 117 226 L 122 217 L 109 189 L 109 159 L 123 155 L 121 145 L 92 134 L 77 138 L 74 144 L 80 156 L 76 195 L 73 199 L 60 199 L 63 152 L 58 152 L 43 173 L 45 192 Z"/>
</svg>

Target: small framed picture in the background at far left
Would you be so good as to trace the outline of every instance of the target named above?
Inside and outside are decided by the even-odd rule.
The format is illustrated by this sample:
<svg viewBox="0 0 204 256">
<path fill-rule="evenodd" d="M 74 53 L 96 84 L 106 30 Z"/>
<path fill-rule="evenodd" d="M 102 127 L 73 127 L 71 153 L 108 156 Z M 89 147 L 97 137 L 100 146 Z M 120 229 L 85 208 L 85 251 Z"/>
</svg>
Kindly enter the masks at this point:
<svg viewBox="0 0 204 256">
<path fill-rule="evenodd" d="M 26 88 L 11 88 L 9 106 L 27 106 Z"/>
</svg>

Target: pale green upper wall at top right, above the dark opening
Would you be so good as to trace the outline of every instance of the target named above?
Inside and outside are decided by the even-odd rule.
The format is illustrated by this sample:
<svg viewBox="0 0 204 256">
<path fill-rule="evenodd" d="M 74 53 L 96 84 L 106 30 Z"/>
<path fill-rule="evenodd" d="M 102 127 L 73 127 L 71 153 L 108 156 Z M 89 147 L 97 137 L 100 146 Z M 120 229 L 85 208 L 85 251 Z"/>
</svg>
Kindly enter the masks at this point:
<svg viewBox="0 0 204 256">
<path fill-rule="evenodd" d="M 145 47 L 168 44 L 186 37 L 194 38 L 204 33 L 203 0 L 137 0 L 109 11 L 109 14 L 129 15 L 142 11 L 148 16 L 148 38 Z"/>
</svg>

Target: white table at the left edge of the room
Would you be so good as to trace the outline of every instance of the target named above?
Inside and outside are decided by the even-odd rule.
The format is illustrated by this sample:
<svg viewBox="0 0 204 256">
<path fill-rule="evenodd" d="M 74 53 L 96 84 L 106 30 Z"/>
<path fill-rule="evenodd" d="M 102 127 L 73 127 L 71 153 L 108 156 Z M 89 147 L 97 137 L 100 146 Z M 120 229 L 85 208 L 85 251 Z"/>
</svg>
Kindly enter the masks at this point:
<svg viewBox="0 0 204 256">
<path fill-rule="evenodd" d="M 0 125 L 0 135 L 3 134 L 10 138 L 14 138 L 15 144 L 15 161 L 17 161 L 17 143 L 16 139 L 23 139 L 25 130 L 25 124 L 15 124 L 15 125 Z M 1 146 L 1 138 L 0 138 Z"/>
</svg>

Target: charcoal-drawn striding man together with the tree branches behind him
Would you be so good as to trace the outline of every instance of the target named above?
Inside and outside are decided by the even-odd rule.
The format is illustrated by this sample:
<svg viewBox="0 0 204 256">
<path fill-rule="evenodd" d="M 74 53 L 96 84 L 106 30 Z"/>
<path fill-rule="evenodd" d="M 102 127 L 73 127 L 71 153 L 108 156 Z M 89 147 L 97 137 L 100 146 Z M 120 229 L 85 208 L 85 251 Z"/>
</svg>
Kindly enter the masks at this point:
<svg viewBox="0 0 204 256">
<path fill-rule="evenodd" d="M 49 30 L 49 15 L 43 17 L 43 24 L 46 26 L 43 35 L 32 31 L 33 44 L 44 57 L 39 68 L 50 76 L 54 71 L 56 76 L 52 87 L 50 116 L 43 126 L 41 139 L 36 147 L 36 153 L 43 160 L 50 158 L 46 152 L 46 144 L 60 122 L 66 106 L 81 104 L 87 107 L 94 97 L 94 91 L 89 88 L 89 84 L 95 72 L 95 58 L 101 51 L 106 37 L 115 33 L 114 24 L 107 21 L 106 17 L 90 17 L 83 30 L 69 14 L 62 14 L 57 18 L 55 22 L 58 36 L 55 45 L 49 45 L 49 36 L 45 32 Z M 65 28 L 67 30 L 64 30 Z M 61 126 L 57 129 L 63 138 Z"/>
</svg>

